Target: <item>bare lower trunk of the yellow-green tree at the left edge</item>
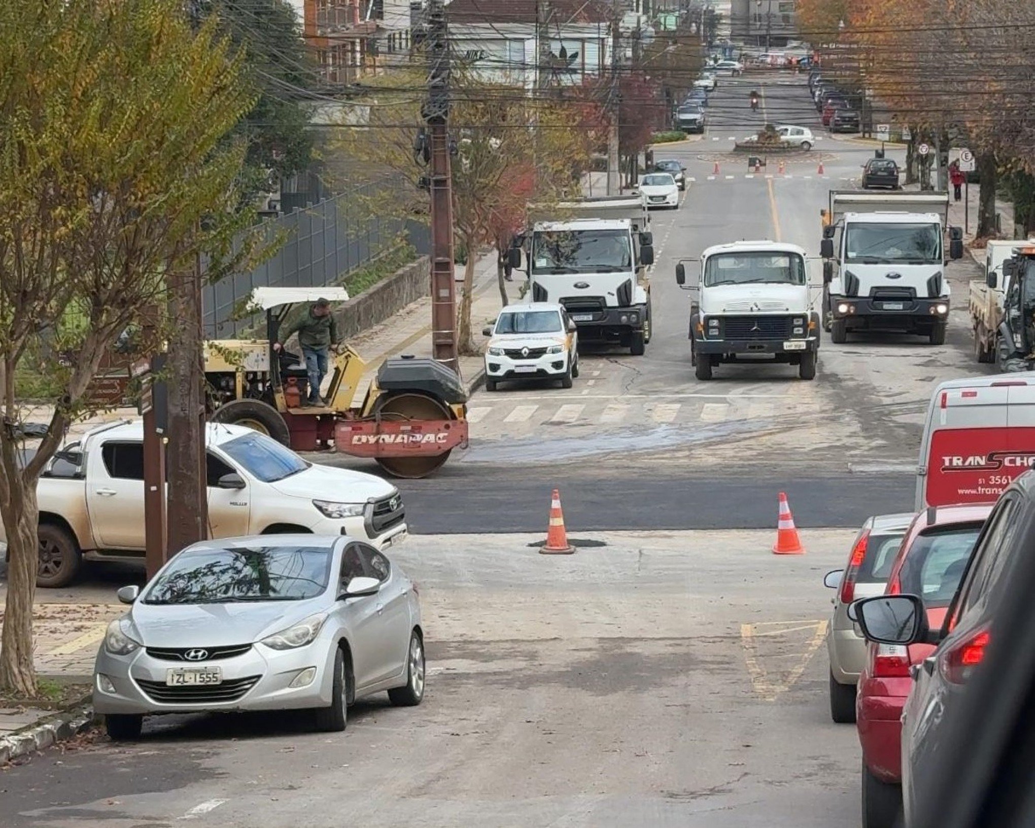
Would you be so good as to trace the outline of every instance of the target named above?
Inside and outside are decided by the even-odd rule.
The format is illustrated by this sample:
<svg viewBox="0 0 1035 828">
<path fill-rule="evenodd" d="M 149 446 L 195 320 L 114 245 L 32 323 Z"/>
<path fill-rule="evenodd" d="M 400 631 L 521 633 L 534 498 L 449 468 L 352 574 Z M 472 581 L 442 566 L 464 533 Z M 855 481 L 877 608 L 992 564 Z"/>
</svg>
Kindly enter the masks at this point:
<svg viewBox="0 0 1035 828">
<path fill-rule="evenodd" d="M 5 452 L 6 453 L 6 452 Z M 4 464 L 6 492 L 0 503 L 7 533 L 7 600 L 0 640 L 0 689 L 14 696 L 36 696 L 36 669 L 32 661 L 32 602 L 36 594 L 39 540 L 36 526 L 36 481 L 26 481 L 20 471 Z"/>
</svg>

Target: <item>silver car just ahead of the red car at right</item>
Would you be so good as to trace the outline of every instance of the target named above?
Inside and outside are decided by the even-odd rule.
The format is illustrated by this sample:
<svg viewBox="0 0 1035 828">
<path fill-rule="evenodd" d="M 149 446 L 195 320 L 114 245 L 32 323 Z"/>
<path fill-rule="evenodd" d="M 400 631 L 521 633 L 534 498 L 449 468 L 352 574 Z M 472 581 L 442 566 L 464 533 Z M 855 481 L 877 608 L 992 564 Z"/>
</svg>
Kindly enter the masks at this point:
<svg viewBox="0 0 1035 828">
<path fill-rule="evenodd" d="M 844 569 L 827 572 L 823 583 L 836 589 L 827 627 L 830 658 L 830 717 L 837 722 L 855 721 L 855 688 L 866 660 L 866 640 L 848 617 L 853 601 L 882 595 L 895 555 L 901 545 L 913 512 L 879 514 L 868 519 L 855 536 Z"/>
</svg>

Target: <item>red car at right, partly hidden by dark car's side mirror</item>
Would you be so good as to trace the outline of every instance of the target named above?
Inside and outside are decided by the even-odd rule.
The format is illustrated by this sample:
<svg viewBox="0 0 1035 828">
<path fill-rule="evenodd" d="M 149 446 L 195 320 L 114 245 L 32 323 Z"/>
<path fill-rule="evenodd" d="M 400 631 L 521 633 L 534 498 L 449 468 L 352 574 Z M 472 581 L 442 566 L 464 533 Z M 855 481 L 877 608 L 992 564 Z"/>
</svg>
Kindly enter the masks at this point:
<svg viewBox="0 0 1035 828">
<path fill-rule="evenodd" d="M 891 565 L 886 595 L 919 595 L 931 629 L 941 627 L 993 504 L 930 507 L 910 525 Z M 901 714 L 910 667 L 928 644 L 867 645 L 859 674 L 856 729 L 862 745 L 862 826 L 893 828 L 901 810 Z"/>
</svg>

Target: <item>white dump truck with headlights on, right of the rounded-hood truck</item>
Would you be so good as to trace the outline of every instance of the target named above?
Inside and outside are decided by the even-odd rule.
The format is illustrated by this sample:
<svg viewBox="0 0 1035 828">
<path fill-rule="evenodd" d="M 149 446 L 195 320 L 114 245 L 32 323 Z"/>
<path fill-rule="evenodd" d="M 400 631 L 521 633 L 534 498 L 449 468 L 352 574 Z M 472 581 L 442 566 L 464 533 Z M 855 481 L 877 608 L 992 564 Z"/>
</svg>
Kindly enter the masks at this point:
<svg viewBox="0 0 1035 828">
<path fill-rule="evenodd" d="M 820 252 L 823 326 L 835 343 L 853 330 L 919 333 L 945 342 L 948 193 L 831 191 Z M 964 255 L 948 228 L 949 259 Z"/>
</svg>

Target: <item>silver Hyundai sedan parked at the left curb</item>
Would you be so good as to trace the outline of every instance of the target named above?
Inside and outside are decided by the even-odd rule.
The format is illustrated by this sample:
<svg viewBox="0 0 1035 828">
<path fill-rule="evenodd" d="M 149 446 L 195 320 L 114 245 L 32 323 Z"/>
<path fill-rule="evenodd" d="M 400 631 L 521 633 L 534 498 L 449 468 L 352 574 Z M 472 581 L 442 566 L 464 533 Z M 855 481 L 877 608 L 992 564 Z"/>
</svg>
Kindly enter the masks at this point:
<svg viewBox="0 0 1035 828">
<path fill-rule="evenodd" d="M 264 535 L 188 546 L 111 623 L 93 704 L 113 739 L 155 713 L 310 708 L 324 731 L 382 690 L 420 704 L 417 591 L 385 555 L 349 537 Z"/>
</svg>

